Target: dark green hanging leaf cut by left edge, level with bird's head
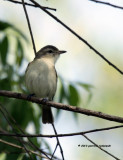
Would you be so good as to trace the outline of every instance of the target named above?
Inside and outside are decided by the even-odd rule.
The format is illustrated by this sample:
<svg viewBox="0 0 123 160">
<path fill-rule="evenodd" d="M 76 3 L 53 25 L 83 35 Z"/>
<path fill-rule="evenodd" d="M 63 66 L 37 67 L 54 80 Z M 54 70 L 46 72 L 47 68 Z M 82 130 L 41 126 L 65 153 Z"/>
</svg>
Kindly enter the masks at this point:
<svg viewBox="0 0 123 160">
<path fill-rule="evenodd" d="M 8 38 L 7 36 L 5 36 L 2 39 L 1 44 L 0 44 L 0 55 L 1 55 L 1 60 L 2 60 L 3 65 L 6 64 L 8 47 L 9 47 Z"/>
</svg>

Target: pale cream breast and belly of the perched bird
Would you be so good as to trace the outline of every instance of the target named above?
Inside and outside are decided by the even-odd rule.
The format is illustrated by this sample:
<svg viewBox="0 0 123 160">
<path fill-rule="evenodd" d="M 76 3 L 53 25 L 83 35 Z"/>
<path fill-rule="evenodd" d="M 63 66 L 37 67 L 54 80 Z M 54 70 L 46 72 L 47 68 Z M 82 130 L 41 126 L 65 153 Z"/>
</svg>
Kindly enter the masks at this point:
<svg viewBox="0 0 123 160">
<path fill-rule="evenodd" d="M 57 77 L 55 66 L 48 60 L 36 59 L 26 71 L 26 86 L 30 93 L 41 98 L 52 99 L 56 92 Z"/>
</svg>

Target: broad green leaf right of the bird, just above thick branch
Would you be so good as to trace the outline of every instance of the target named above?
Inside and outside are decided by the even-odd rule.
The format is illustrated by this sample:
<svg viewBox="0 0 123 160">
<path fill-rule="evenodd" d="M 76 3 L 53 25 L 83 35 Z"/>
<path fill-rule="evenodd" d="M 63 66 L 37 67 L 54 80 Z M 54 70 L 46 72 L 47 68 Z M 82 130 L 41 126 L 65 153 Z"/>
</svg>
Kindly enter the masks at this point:
<svg viewBox="0 0 123 160">
<path fill-rule="evenodd" d="M 69 104 L 77 106 L 79 103 L 79 93 L 77 89 L 71 84 L 68 86 L 68 89 L 69 89 L 69 96 L 68 96 Z"/>
</svg>

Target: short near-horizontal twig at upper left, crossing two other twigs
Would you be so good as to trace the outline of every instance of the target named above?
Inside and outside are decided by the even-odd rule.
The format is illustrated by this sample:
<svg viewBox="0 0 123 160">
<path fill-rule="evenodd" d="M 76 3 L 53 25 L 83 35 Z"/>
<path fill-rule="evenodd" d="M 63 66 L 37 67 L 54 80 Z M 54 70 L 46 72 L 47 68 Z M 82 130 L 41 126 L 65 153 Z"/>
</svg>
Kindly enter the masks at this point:
<svg viewBox="0 0 123 160">
<path fill-rule="evenodd" d="M 4 0 L 4 1 L 8 1 L 8 2 L 12 2 L 12 3 L 16 3 L 16 4 L 21 4 L 22 5 L 22 3 L 21 2 L 19 2 L 19 1 L 13 1 L 13 0 Z M 37 8 L 39 8 L 37 5 L 33 5 L 33 4 L 30 4 L 30 3 L 26 3 L 25 2 L 25 5 L 27 5 L 27 6 L 31 6 L 31 7 L 37 7 Z M 50 7 L 44 7 L 44 6 L 41 6 L 42 8 L 44 8 L 44 9 L 48 9 L 48 10 L 52 10 L 52 11 L 56 11 L 56 9 L 55 8 L 50 8 Z"/>
</svg>

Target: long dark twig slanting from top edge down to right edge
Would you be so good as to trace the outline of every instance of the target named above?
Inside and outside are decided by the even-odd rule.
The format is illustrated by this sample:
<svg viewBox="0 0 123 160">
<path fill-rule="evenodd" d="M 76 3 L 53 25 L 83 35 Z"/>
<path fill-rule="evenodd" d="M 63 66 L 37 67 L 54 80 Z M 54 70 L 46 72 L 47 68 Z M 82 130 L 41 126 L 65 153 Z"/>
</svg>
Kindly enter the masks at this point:
<svg viewBox="0 0 123 160">
<path fill-rule="evenodd" d="M 112 66 L 114 69 L 116 69 L 119 73 L 123 74 L 123 71 L 120 70 L 116 65 L 114 65 L 112 62 L 110 62 L 106 57 L 104 57 L 99 51 L 97 51 L 91 44 L 89 44 L 84 38 L 82 38 L 79 34 L 77 34 L 74 30 L 72 30 L 70 27 L 68 27 L 65 23 L 63 23 L 60 19 L 58 19 L 56 16 L 54 16 L 52 13 L 50 13 L 48 10 L 42 8 L 39 3 L 35 2 L 34 0 L 30 0 L 33 4 L 39 6 L 41 10 L 43 10 L 45 13 L 47 13 L 49 16 L 51 16 L 53 19 L 55 19 L 58 23 L 60 23 L 62 26 L 64 26 L 67 30 L 69 30 L 74 36 L 79 38 L 83 43 L 85 43 L 91 50 L 93 50 L 98 56 L 100 56 L 105 62 L 107 62 L 110 66 Z"/>
</svg>

